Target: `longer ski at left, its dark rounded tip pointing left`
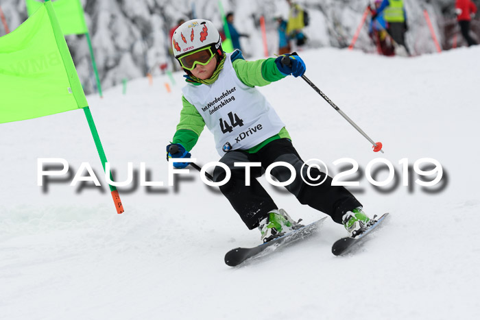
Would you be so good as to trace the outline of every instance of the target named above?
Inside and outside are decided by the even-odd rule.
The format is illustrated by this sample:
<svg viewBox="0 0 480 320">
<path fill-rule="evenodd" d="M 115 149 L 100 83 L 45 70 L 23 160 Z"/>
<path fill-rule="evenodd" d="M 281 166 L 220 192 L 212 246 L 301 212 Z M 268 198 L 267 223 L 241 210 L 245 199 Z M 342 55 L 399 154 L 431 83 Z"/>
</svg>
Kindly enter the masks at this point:
<svg viewBox="0 0 480 320">
<path fill-rule="evenodd" d="M 273 240 L 268 241 L 267 243 L 262 243 L 256 247 L 232 249 L 225 255 L 225 263 L 230 267 L 235 267 L 249 258 L 259 258 L 266 256 L 267 254 L 271 254 L 279 247 L 289 245 L 306 236 L 309 236 L 315 230 L 317 230 L 322 223 L 324 223 L 325 219 L 326 217 L 310 223 L 309 225 L 304 225 L 297 230 L 293 230 L 283 236 L 274 238 Z"/>
</svg>

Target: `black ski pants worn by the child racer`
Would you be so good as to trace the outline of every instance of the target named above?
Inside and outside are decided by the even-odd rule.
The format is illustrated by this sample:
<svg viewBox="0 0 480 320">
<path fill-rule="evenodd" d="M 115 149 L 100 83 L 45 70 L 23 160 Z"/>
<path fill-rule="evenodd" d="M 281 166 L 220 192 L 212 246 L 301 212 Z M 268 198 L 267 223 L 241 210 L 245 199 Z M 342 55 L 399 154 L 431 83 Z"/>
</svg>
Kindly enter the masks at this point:
<svg viewBox="0 0 480 320">
<path fill-rule="evenodd" d="M 273 140 L 256 153 L 232 150 L 220 159 L 220 162 L 226 164 L 232 173 L 228 183 L 220 186 L 221 193 L 230 201 L 250 230 L 258 227 L 259 222 L 267 217 L 269 212 L 278 209 L 272 197 L 256 178 L 263 174 L 262 169 L 267 169 L 270 164 L 280 161 L 288 162 L 295 168 L 296 178 L 285 188 L 297 197 L 300 204 L 307 204 L 328 214 L 337 223 L 341 223 L 341 217 L 347 211 L 361 206 L 346 188 L 331 186 L 332 178 L 329 176 L 320 186 L 310 186 L 305 183 L 304 180 L 315 184 L 322 181 L 326 174 L 311 167 L 310 177 L 315 179 L 320 175 L 320 180 L 312 181 L 307 175 L 307 166 L 302 169 L 304 162 L 291 141 L 287 138 Z M 235 167 L 235 162 L 261 162 L 261 167 L 250 168 L 250 186 L 245 185 L 245 167 Z M 272 169 L 271 173 L 278 182 L 286 182 L 291 177 L 290 169 L 282 165 Z M 215 167 L 213 180 L 220 182 L 225 177 L 226 171 L 221 167 Z"/>
</svg>

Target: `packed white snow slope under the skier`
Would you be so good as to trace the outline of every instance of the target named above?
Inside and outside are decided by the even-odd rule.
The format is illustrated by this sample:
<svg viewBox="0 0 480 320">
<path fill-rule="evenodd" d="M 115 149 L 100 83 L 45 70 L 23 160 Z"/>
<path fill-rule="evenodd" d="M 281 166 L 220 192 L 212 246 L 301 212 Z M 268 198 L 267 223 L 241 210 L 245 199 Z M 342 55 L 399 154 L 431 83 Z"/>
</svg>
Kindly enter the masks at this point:
<svg viewBox="0 0 480 320">
<path fill-rule="evenodd" d="M 224 254 L 259 243 L 218 190 L 197 171 L 167 186 L 165 145 L 176 130 L 182 75 L 129 82 L 88 96 L 116 180 L 140 163 L 163 187 L 119 188 L 117 214 L 82 110 L 0 125 L 0 315 L 2 319 L 476 319 L 478 315 L 480 48 L 417 58 L 358 51 L 304 51 L 307 77 L 375 141 L 351 127 L 302 79 L 260 88 L 287 124 L 304 160 L 352 158 L 346 180 L 368 214 L 390 212 L 361 249 L 335 257 L 346 234 L 328 219 L 311 238 L 230 268 Z M 216 161 L 206 130 L 191 151 Z M 395 167 L 373 188 L 374 158 Z M 64 158 L 71 176 L 37 185 L 38 158 Z M 440 184 L 423 188 L 403 164 L 440 162 Z M 406 161 L 406 160 L 404 160 Z M 82 162 L 102 184 L 69 186 Z M 345 164 L 343 164 L 345 165 Z M 385 167 L 385 166 L 384 166 Z M 345 169 L 343 169 L 345 171 Z M 83 175 L 86 175 L 84 171 Z M 377 180 L 385 180 L 381 171 Z M 430 178 L 431 180 L 431 178 Z M 139 184 L 139 178 L 135 181 Z M 309 223 L 324 217 L 261 178 L 280 208 Z M 45 190 L 45 191 L 44 191 Z"/>
</svg>

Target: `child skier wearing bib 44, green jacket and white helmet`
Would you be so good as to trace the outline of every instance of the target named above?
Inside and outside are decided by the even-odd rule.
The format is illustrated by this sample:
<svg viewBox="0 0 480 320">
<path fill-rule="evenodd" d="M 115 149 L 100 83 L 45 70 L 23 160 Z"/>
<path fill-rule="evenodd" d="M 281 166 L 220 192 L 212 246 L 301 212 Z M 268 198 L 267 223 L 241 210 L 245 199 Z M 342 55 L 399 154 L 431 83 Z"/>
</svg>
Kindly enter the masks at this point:
<svg viewBox="0 0 480 320">
<path fill-rule="evenodd" d="M 214 135 L 221 156 L 219 161 L 231 171 L 230 180 L 220 186 L 221 193 L 250 230 L 259 228 L 263 242 L 293 230 L 297 223 L 285 210 L 278 210 L 256 180 L 262 174 L 261 168 L 252 167 L 250 180 L 246 180 L 245 167 L 235 167 L 236 162 L 261 162 L 264 169 L 274 162 L 288 162 L 296 170 L 296 179 L 287 190 L 301 204 L 308 204 L 330 215 L 333 221 L 343 223 L 350 236 L 361 234 L 374 222 L 346 188 L 331 186 L 331 177 L 327 176 L 320 186 L 310 185 L 315 181 L 308 177 L 306 167 L 302 170 L 304 162 L 293 148 L 285 124 L 254 88 L 287 75 L 303 75 L 305 64 L 300 57 L 284 55 L 290 59 L 289 66 L 282 64 L 284 56 L 245 61 L 239 50 L 222 51 L 219 32 L 211 21 L 202 19 L 180 25 L 173 34 L 172 47 L 175 58 L 187 73 L 188 84 L 182 89 L 180 123 L 172 143 L 167 145 L 167 159 L 190 158 L 189 151 L 206 125 Z M 170 149 L 172 145 L 176 147 Z M 173 165 L 184 168 L 188 164 L 176 162 Z M 310 173 L 311 177 L 320 176 L 320 181 L 325 177 L 325 173 L 315 168 L 311 168 Z M 278 166 L 272 170 L 272 175 L 285 182 L 291 172 L 287 167 Z M 224 169 L 216 167 L 213 180 L 219 182 L 225 177 Z"/>
</svg>

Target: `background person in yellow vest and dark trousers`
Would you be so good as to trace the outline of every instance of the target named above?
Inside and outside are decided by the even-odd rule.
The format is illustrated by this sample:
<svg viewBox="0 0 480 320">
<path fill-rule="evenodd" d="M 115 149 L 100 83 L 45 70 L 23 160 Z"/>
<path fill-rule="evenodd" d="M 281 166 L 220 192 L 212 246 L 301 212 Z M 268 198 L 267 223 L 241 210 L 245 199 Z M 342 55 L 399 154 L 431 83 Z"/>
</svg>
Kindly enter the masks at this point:
<svg viewBox="0 0 480 320">
<path fill-rule="evenodd" d="M 398 45 L 396 47 L 396 53 L 404 48 L 407 54 L 410 55 L 410 51 L 405 43 L 405 32 L 407 32 L 408 29 L 405 1 L 383 0 L 379 9 L 374 12 L 372 18 L 374 19 L 381 13 L 383 13 L 383 18 L 387 21 L 387 32 Z"/>
</svg>

